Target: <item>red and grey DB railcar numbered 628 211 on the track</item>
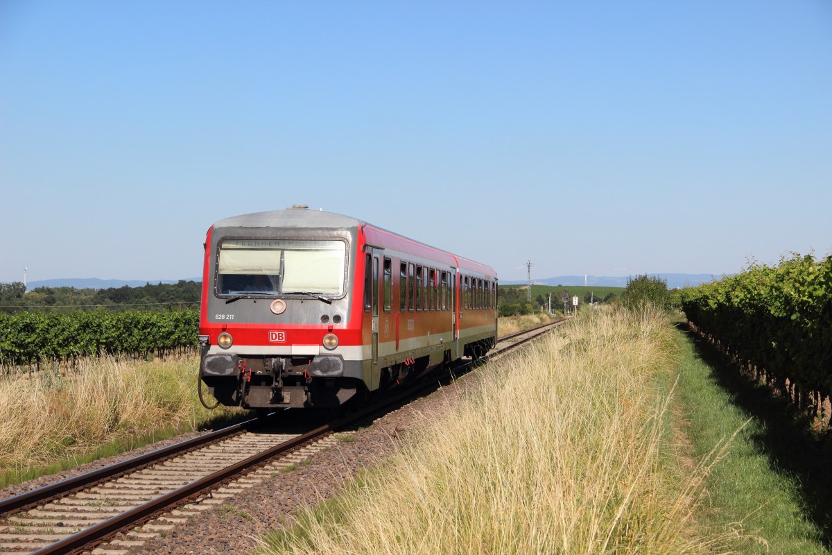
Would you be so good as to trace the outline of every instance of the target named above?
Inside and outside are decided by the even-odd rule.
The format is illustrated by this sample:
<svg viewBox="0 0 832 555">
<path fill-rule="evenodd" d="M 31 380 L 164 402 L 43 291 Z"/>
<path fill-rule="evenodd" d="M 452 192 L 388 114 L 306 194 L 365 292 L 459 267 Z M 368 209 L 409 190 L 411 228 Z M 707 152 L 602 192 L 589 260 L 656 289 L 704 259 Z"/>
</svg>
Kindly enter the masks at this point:
<svg viewBox="0 0 832 555">
<path fill-rule="evenodd" d="M 486 265 L 303 205 L 208 230 L 200 377 L 220 404 L 334 408 L 496 339 Z"/>
</svg>

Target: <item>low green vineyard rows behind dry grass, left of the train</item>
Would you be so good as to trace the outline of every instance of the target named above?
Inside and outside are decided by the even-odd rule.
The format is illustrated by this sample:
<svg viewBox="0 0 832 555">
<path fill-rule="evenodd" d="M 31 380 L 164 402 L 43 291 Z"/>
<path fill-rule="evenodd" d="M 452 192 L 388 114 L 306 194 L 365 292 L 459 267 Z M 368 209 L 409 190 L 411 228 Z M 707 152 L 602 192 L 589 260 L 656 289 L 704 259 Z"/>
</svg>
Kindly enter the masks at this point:
<svg viewBox="0 0 832 555">
<path fill-rule="evenodd" d="M 193 349 L 199 315 L 199 310 L 0 314 L 0 367 L 8 373 L 102 353 L 145 358 Z"/>
</svg>

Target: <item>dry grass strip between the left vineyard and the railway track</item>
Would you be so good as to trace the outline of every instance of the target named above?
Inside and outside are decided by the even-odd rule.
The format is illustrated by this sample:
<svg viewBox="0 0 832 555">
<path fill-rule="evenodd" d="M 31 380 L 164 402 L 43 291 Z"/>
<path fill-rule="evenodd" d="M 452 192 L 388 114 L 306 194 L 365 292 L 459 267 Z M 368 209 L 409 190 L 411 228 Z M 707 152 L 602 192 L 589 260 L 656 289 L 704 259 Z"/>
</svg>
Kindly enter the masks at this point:
<svg viewBox="0 0 832 555">
<path fill-rule="evenodd" d="M 231 411 L 196 398 L 198 364 L 104 357 L 68 376 L 0 380 L 0 487 L 221 422 Z"/>
</svg>

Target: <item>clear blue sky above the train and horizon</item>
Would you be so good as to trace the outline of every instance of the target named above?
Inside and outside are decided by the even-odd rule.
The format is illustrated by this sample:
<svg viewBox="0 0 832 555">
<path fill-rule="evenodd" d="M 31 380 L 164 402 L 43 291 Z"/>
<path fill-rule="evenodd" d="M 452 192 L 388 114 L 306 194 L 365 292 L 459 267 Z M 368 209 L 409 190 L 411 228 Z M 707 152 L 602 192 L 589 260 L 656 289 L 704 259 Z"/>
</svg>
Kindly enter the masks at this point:
<svg viewBox="0 0 832 555">
<path fill-rule="evenodd" d="M 832 2 L 0 2 L 0 281 L 305 203 L 532 276 L 832 253 Z"/>
</svg>

